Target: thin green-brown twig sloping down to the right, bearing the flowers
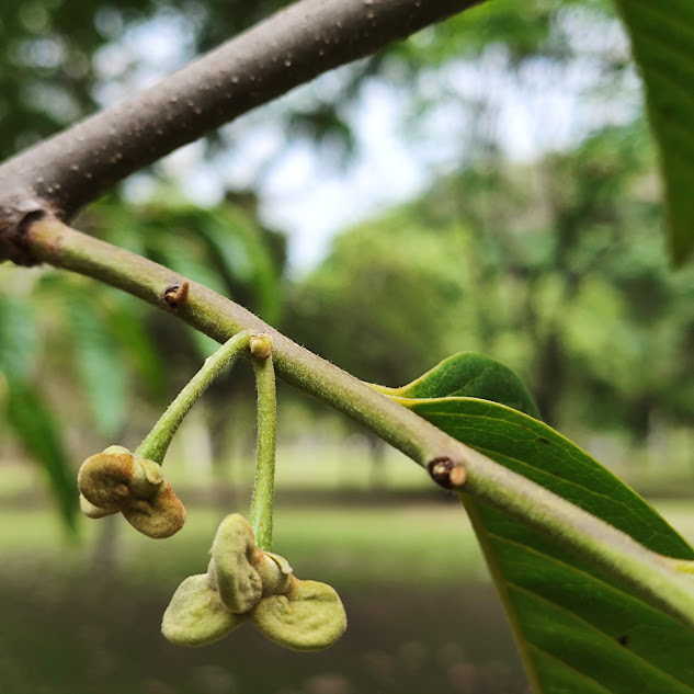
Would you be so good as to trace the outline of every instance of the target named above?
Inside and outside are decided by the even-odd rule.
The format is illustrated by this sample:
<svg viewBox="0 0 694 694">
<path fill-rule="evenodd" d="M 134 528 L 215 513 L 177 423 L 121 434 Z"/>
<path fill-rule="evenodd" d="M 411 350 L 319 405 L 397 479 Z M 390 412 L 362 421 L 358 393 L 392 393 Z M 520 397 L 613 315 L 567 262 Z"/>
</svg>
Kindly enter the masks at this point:
<svg viewBox="0 0 694 694">
<path fill-rule="evenodd" d="M 49 217 L 25 229 L 33 257 L 93 277 L 178 316 L 225 342 L 241 330 L 272 337 L 273 359 L 282 378 L 361 422 L 434 473 L 444 460 L 457 475 L 455 485 L 520 523 L 602 569 L 649 603 L 694 627 L 691 577 L 625 533 L 569 503 L 527 478 L 448 436 L 357 378 L 295 344 L 251 312 L 211 289 L 145 258 L 86 236 Z M 172 307 L 168 297 L 187 286 Z M 444 466 L 445 467 L 445 466 Z M 436 474 L 432 474 L 436 478 Z M 451 475 L 451 480 L 454 480 Z M 445 532 L 445 528 L 442 528 Z"/>
</svg>

